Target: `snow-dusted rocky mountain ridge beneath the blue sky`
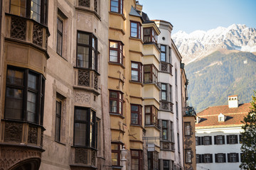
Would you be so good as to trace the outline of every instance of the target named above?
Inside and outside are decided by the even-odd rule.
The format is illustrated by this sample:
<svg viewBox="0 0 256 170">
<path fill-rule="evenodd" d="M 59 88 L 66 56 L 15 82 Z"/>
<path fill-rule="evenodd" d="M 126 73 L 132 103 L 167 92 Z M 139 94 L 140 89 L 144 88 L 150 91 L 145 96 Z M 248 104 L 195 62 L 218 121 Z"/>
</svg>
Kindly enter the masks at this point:
<svg viewBox="0 0 256 170">
<path fill-rule="evenodd" d="M 172 39 L 185 63 L 193 62 L 222 49 L 256 52 L 256 29 L 240 24 L 208 31 L 196 30 L 190 34 L 180 30 L 172 35 Z"/>
</svg>

